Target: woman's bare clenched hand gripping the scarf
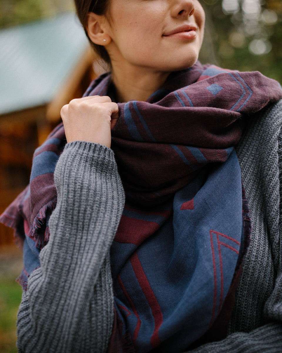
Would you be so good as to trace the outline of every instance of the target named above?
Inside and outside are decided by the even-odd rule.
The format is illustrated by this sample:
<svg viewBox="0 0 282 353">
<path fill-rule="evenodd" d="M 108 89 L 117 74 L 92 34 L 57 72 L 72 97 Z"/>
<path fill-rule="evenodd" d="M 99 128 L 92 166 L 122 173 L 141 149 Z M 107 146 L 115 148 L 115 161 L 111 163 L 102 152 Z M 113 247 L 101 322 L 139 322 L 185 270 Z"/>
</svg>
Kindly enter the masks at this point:
<svg viewBox="0 0 282 353">
<path fill-rule="evenodd" d="M 67 142 L 87 141 L 111 146 L 111 128 L 118 119 L 118 105 L 108 96 L 73 99 L 61 109 Z"/>
</svg>

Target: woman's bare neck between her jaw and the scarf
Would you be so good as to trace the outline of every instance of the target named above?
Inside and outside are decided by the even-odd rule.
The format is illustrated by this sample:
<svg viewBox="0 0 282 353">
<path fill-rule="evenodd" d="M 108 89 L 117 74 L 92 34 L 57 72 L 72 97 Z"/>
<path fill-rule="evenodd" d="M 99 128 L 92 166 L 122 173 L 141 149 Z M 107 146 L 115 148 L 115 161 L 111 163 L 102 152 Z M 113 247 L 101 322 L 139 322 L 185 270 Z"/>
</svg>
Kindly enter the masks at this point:
<svg viewBox="0 0 282 353">
<path fill-rule="evenodd" d="M 112 81 L 118 102 L 146 101 L 166 80 L 169 72 L 148 68 L 120 67 L 112 62 Z"/>
</svg>

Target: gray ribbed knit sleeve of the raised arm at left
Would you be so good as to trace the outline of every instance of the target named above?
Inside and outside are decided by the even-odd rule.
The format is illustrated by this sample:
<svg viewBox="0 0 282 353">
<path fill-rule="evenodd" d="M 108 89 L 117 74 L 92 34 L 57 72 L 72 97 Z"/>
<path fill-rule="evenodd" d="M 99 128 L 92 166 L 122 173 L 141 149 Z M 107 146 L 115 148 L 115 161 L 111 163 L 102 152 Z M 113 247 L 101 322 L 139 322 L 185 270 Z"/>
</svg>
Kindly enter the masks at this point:
<svg viewBox="0 0 282 353">
<path fill-rule="evenodd" d="M 109 250 L 124 206 L 113 151 L 69 143 L 54 179 L 58 202 L 20 304 L 18 349 L 106 352 L 114 320 Z"/>
</svg>

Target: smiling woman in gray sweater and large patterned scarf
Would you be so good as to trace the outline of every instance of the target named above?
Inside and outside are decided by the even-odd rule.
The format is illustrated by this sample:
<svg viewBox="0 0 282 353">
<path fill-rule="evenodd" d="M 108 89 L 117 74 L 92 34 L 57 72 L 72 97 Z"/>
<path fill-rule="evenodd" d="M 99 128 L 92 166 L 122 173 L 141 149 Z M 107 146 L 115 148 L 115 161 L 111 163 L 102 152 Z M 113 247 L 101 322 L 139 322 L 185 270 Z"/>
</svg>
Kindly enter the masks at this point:
<svg viewBox="0 0 282 353">
<path fill-rule="evenodd" d="M 111 75 L 1 217 L 25 233 L 19 352 L 281 352 L 280 86 L 197 62 L 199 1 L 76 8 Z"/>
</svg>

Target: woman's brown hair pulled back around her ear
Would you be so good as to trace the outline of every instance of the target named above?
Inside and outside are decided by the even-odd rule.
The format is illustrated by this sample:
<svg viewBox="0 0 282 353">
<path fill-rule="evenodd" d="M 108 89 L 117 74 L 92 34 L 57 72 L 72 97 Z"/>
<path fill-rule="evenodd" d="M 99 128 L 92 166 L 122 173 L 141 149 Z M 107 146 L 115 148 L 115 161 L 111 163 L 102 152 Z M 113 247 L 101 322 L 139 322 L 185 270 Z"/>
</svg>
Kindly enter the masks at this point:
<svg viewBox="0 0 282 353">
<path fill-rule="evenodd" d="M 97 15 L 105 14 L 109 6 L 109 0 L 74 0 L 74 2 L 75 2 L 76 14 L 84 28 L 85 34 L 89 39 L 91 46 L 103 60 L 105 60 L 108 64 L 110 64 L 110 57 L 105 47 L 102 45 L 93 43 L 90 40 L 86 30 L 86 21 L 87 21 L 88 12 L 94 12 Z"/>
</svg>

